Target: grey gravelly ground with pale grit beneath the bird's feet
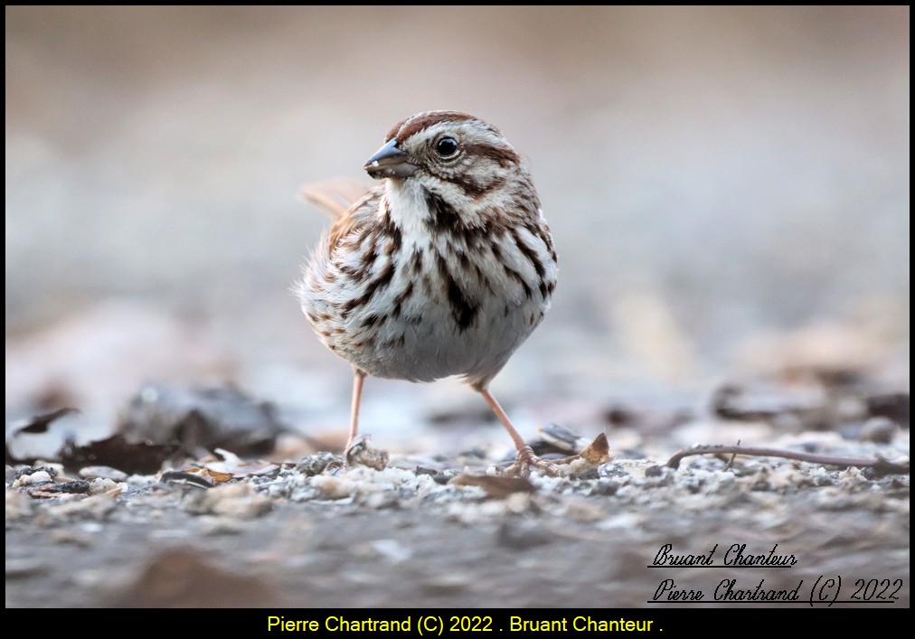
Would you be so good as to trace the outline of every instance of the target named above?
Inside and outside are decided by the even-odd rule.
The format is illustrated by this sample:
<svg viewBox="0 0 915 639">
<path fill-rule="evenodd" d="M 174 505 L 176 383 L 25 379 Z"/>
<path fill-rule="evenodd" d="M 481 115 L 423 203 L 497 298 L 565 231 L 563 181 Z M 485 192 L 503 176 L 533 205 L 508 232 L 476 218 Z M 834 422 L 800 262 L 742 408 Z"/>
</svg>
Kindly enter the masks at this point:
<svg viewBox="0 0 915 639">
<path fill-rule="evenodd" d="M 899 459 L 908 431 L 887 444 L 831 433 L 781 443 Z M 97 469 L 123 481 L 72 488 L 82 494 L 48 493 L 65 484 L 42 484 L 47 470 L 7 468 L 6 606 L 640 607 L 699 591 L 716 605 L 723 580 L 736 580 L 732 591 L 800 585 L 809 600 L 822 578 L 841 580 L 823 595 L 834 605 L 857 605 L 841 603 L 857 591 L 888 598 L 870 605 L 909 606 L 908 474 L 708 456 L 674 470 L 656 453 L 529 480 L 472 455 L 315 474 L 329 459 Z M 649 568 L 709 553 L 719 568 Z M 737 567 L 738 556 L 757 559 Z M 754 565 L 760 557 L 789 565 Z M 876 593 L 859 588 L 869 580 Z"/>
</svg>

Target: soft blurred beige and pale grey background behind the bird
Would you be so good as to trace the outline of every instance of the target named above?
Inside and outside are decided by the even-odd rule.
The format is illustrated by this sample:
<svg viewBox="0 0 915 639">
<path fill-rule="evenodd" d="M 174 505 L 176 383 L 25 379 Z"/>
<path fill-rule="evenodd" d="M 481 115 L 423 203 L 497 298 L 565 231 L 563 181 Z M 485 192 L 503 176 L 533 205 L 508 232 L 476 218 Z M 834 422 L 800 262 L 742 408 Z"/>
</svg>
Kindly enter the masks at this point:
<svg viewBox="0 0 915 639">
<path fill-rule="evenodd" d="M 553 310 L 492 387 L 523 432 L 797 363 L 908 391 L 909 24 L 7 7 L 7 421 L 73 405 L 110 425 L 145 380 L 233 383 L 342 436 L 350 368 L 289 292 L 328 219 L 296 191 L 368 184 L 383 134 L 429 109 L 500 127 L 554 231 Z M 414 425 L 482 420 L 458 386 L 371 380 L 365 429 L 423 448 Z"/>
</svg>

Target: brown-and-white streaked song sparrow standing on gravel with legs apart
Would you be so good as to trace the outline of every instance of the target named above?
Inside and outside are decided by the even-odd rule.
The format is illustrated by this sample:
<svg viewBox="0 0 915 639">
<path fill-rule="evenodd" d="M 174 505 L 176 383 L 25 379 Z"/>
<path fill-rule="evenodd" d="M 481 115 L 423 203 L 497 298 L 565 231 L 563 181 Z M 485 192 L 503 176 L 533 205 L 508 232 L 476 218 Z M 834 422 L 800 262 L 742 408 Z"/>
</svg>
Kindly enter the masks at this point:
<svg viewBox="0 0 915 639">
<path fill-rule="evenodd" d="M 398 122 L 365 163 L 381 184 L 348 209 L 339 187 L 306 190 L 338 217 L 297 293 L 321 341 L 354 370 L 349 446 L 362 382 L 463 376 L 518 449 L 515 470 L 555 471 L 534 455 L 487 388 L 550 307 L 556 253 L 521 156 L 462 112 Z"/>
</svg>

